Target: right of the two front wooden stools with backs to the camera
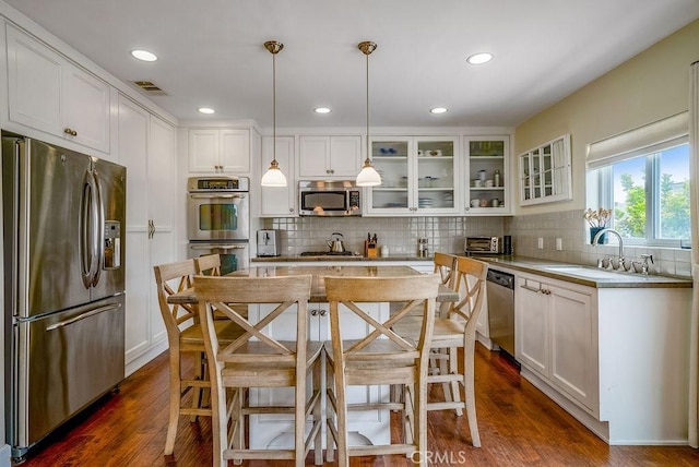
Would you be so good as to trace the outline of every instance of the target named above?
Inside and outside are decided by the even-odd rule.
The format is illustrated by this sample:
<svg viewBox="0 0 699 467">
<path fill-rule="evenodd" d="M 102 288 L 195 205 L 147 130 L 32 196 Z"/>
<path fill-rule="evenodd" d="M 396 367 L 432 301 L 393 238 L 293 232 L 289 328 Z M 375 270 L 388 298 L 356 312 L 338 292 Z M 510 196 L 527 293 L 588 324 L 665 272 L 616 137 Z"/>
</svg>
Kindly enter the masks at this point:
<svg viewBox="0 0 699 467">
<path fill-rule="evenodd" d="M 377 454 L 411 455 L 427 450 L 426 375 L 429 342 L 435 318 L 435 300 L 439 276 L 405 277 L 324 277 L 330 302 L 331 340 L 325 343 L 328 403 L 328 459 L 334 457 L 334 446 L 341 466 L 348 466 L 350 456 Z M 366 310 L 367 303 L 400 302 L 401 309 L 384 322 Z M 419 311 L 414 313 L 414 311 Z M 411 314 L 412 313 L 412 314 Z M 404 339 L 391 326 L 405 316 L 420 316 L 417 339 Z M 357 340 L 343 340 L 343 319 L 364 321 L 368 335 Z M 346 388 L 352 385 L 404 385 L 404 403 L 347 403 Z M 348 446 L 347 411 L 352 409 L 403 410 L 403 443 L 390 445 Z"/>
</svg>

